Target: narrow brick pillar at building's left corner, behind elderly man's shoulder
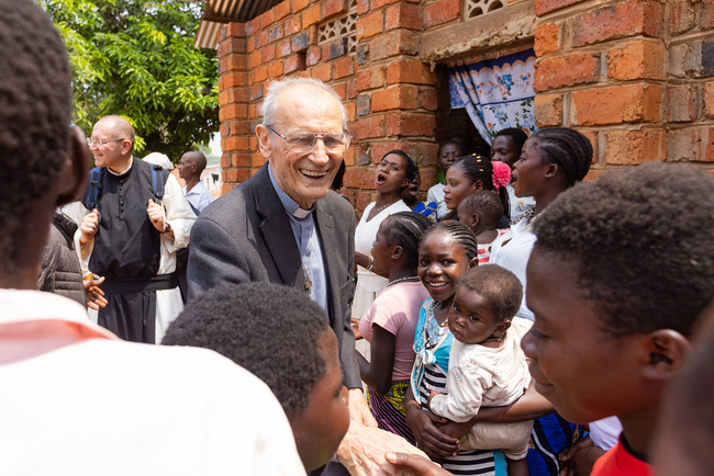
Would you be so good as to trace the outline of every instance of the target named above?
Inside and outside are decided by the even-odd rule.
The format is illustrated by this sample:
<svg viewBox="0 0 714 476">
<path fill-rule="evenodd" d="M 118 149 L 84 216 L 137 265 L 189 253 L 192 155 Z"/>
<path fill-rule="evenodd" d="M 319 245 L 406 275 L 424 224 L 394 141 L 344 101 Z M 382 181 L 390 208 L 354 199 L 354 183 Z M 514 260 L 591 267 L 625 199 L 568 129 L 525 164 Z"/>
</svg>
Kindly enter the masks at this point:
<svg viewBox="0 0 714 476">
<path fill-rule="evenodd" d="M 245 23 L 228 23 L 219 33 L 219 117 L 221 121 L 221 167 L 223 191 L 250 177 L 250 122 Z"/>
</svg>

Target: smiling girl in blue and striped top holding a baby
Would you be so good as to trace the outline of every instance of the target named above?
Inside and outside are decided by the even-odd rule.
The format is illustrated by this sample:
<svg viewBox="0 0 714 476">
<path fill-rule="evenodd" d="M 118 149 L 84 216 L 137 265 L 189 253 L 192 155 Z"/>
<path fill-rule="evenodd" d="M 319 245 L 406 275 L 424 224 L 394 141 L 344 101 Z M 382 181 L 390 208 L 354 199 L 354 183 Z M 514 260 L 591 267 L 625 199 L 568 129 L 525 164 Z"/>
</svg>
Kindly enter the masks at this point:
<svg viewBox="0 0 714 476">
<path fill-rule="evenodd" d="M 432 390 L 444 392 L 446 388 L 454 338 L 447 326 L 447 317 L 456 286 L 466 270 L 477 264 L 477 247 L 471 230 L 453 220 L 437 223 L 422 238 L 417 270 L 431 298 L 422 306 L 414 335 L 416 359 L 406 393 L 406 424 L 419 446 L 429 457 L 443 458 L 445 469 L 453 474 L 473 474 L 479 468 L 483 474 L 493 475 L 494 453 L 475 451 L 456 454 L 458 440 L 437 427 L 438 423 L 447 423 L 447 420 L 434 416 L 426 406 Z"/>
</svg>

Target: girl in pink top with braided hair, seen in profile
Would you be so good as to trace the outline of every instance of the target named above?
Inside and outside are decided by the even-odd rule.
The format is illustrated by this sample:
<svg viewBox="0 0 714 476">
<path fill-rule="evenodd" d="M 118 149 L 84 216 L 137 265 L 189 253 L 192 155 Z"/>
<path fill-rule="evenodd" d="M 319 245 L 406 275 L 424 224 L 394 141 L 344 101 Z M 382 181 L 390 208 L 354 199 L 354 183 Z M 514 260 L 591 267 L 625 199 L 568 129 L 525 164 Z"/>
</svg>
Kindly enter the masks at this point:
<svg viewBox="0 0 714 476">
<path fill-rule="evenodd" d="M 359 321 L 359 332 L 370 343 L 371 363 L 355 351 L 369 406 L 379 428 L 414 444 L 404 420 L 404 393 L 414 363 L 414 330 L 428 293 L 416 275 L 419 241 L 432 225 L 413 212 L 386 218 L 372 245 L 375 273 L 389 279 Z"/>
</svg>

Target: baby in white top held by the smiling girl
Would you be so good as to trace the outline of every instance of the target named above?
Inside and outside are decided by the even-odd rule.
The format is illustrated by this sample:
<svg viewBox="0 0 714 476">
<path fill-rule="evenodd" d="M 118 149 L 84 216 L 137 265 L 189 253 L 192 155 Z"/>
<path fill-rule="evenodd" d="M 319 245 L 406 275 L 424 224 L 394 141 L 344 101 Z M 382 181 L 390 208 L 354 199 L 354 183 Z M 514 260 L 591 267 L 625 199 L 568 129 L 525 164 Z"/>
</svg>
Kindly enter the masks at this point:
<svg viewBox="0 0 714 476">
<path fill-rule="evenodd" d="M 466 422 L 482 405 L 511 405 L 523 395 L 531 375 L 521 338 L 531 322 L 513 321 L 522 294 L 518 279 L 501 267 L 492 264 L 467 271 L 448 316 L 456 342 L 449 353 L 446 394 L 432 393 L 427 400 L 432 412 Z M 509 462 L 509 475 L 527 475 L 525 456 L 531 431 L 533 421 L 480 423 L 464 438 L 461 449 L 502 449 Z"/>
</svg>

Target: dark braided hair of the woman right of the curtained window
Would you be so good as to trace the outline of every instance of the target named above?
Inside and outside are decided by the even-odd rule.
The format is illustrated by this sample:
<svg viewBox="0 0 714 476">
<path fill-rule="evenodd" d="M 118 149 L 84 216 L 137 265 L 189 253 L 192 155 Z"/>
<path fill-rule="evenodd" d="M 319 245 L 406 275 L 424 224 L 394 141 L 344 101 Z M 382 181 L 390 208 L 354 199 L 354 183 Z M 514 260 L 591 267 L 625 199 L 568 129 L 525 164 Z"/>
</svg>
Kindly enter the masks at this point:
<svg viewBox="0 0 714 476">
<path fill-rule="evenodd" d="M 551 127 L 534 133 L 529 140 L 543 152 L 545 163 L 557 163 L 568 186 L 585 178 L 592 163 L 592 144 L 570 127 Z"/>
</svg>

